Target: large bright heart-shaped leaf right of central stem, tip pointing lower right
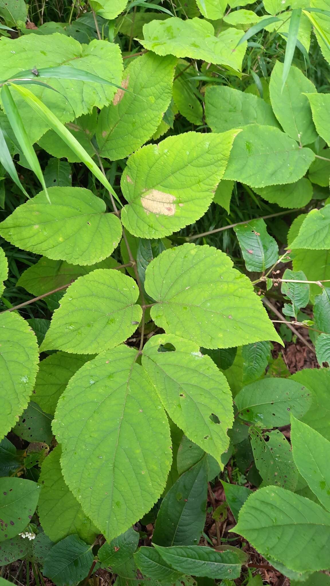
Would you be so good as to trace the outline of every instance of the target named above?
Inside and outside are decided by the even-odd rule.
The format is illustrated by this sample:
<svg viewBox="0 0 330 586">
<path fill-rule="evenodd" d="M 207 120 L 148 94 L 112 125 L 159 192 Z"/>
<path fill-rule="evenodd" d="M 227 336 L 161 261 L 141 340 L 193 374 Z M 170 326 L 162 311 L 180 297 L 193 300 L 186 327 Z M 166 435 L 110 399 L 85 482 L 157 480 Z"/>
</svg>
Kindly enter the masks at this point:
<svg viewBox="0 0 330 586">
<path fill-rule="evenodd" d="M 147 267 L 145 287 L 157 301 L 150 311 L 156 325 L 200 346 L 281 340 L 251 281 L 213 247 L 165 250 Z"/>
</svg>

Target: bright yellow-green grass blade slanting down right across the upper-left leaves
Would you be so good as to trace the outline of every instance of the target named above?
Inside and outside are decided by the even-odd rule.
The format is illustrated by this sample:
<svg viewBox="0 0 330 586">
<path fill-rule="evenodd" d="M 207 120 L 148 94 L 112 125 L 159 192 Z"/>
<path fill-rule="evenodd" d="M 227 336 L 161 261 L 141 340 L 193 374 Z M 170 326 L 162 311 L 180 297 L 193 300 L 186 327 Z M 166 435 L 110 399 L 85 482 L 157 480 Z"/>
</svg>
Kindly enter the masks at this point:
<svg viewBox="0 0 330 586">
<path fill-rule="evenodd" d="M 34 94 L 32 94 L 31 91 L 25 87 L 16 86 L 15 84 L 12 84 L 12 87 L 15 89 L 15 91 L 21 94 L 22 98 L 29 105 L 31 105 L 33 110 L 35 110 L 35 112 L 37 112 L 43 118 L 43 120 L 48 122 L 50 128 L 52 128 L 59 135 L 59 137 L 62 138 L 64 142 L 66 142 L 68 147 L 70 147 L 70 149 L 72 149 L 72 151 L 79 156 L 80 160 L 86 165 L 86 167 L 92 171 L 93 175 L 99 179 L 99 182 L 102 183 L 102 185 L 104 185 L 110 193 L 112 193 L 113 197 L 115 197 L 117 202 L 119 202 L 122 206 L 122 202 L 120 202 L 120 199 L 112 185 L 110 185 L 105 175 L 103 175 L 102 171 L 85 151 L 80 142 L 78 142 L 78 140 L 72 136 L 68 128 L 66 128 L 65 125 L 62 124 L 62 122 L 60 122 L 59 119 L 52 113 L 52 111 L 50 111 L 49 108 L 42 103 L 42 101 L 40 101 Z"/>
</svg>

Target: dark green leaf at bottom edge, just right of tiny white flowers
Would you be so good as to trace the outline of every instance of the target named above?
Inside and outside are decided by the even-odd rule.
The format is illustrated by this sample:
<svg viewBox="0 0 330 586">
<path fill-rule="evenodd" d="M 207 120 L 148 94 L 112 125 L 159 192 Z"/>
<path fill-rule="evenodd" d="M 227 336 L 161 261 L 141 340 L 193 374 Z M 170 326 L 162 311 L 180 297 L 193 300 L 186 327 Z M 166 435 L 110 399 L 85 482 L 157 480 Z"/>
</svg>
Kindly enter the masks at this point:
<svg viewBox="0 0 330 586">
<path fill-rule="evenodd" d="M 42 573 L 56 586 L 71 586 L 86 578 L 93 559 L 92 547 L 69 535 L 49 551 Z"/>
</svg>

